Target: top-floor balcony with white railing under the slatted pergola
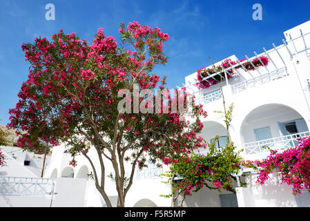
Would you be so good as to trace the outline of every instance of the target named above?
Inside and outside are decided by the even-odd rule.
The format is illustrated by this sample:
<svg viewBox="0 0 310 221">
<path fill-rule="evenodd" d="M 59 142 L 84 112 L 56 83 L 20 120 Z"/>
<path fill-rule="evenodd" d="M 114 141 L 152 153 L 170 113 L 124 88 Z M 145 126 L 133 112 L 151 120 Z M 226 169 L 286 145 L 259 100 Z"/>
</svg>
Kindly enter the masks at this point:
<svg viewBox="0 0 310 221">
<path fill-rule="evenodd" d="M 303 35 L 301 37 L 303 37 Z M 213 84 L 212 82 L 215 77 L 218 77 L 218 75 L 222 76 L 223 72 L 225 76 L 223 79 L 223 81 L 225 81 L 223 88 L 226 85 L 230 85 L 232 88 L 232 94 L 240 93 L 250 88 L 255 88 L 261 86 L 262 84 L 267 84 L 278 79 L 283 79 L 284 77 L 287 77 L 289 75 L 289 72 L 291 71 L 287 69 L 287 64 L 291 63 L 293 57 L 296 57 L 299 53 L 304 52 L 304 50 L 294 47 L 294 40 L 296 39 L 291 39 L 290 41 L 286 42 L 283 39 L 283 44 L 281 44 L 280 46 L 275 46 L 275 44 L 272 44 L 273 48 L 271 48 L 270 50 L 266 50 L 265 48 L 263 48 L 264 51 L 260 53 L 260 55 L 254 52 L 255 56 L 251 58 L 245 56 L 245 59 L 239 60 L 237 57 L 235 57 L 235 55 L 231 56 L 229 59 L 236 61 L 236 64 L 229 64 L 229 67 L 224 68 L 221 73 L 213 73 L 207 77 L 204 77 L 203 79 L 200 79 L 200 81 L 209 82 L 212 85 L 213 89 L 202 89 L 197 86 L 197 83 L 199 83 L 197 79 L 197 73 L 193 73 L 192 75 L 186 77 L 186 84 L 184 84 L 184 86 L 190 89 L 193 95 L 198 94 L 197 102 L 200 102 L 201 104 L 209 104 L 211 102 L 217 101 L 218 99 L 221 99 L 222 97 L 220 94 L 220 90 L 218 90 L 219 86 L 217 86 L 217 84 Z M 269 59 L 268 65 L 265 65 L 260 59 L 263 56 Z M 309 53 L 306 56 L 308 56 L 309 58 Z M 254 61 L 258 60 L 261 64 L 261 66 L 259 67 L 257 67 L 257 65 L 254 65 Z M 222 61 L 219 61 L 215 65 L 219 66 L 221 62 Z M 251 64 L 252 68 L 245 68 L 246 64 Z M 208 68 L 212 68 L 212 66 L 209 66 Z M 232 75 L 231 78 L 227 77 L 227 73 L 231 73 L 232 71 L 235 74 Z M 206 93 L 208 92 L 208 90 L 213 91 Z"/>
</svg>

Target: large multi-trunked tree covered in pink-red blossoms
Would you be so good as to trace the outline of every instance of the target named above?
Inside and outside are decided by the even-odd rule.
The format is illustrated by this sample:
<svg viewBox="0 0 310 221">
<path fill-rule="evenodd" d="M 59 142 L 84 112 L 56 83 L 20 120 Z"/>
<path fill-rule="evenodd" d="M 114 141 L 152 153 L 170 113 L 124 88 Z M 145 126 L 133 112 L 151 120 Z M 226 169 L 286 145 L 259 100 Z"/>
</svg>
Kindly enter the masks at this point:
<svg viewBox="0 0 310 221">
<path fill-rule="evenodd" d="M 206 112 L 195 105 L 185 89 L 177 91 L 175 97 L 180 95 L 180 99 L 142 93 L 146 89 L 166 89 L 166 77 L 155 75 L 153 68 L 167 62 L 163 45 L 168 34 L 137 21 L 126 27 L 121 23 L 119 34 L 119 45 L 101 28 L 92 44 L 63 30 L 52 35 L 50 41 L 39 37 L 33 44 L 23 44 L 30 72 L 21 86 L 16 108 L 10 109 L 8 124 L 23 131 L 19 146 L 36 148 L 44 142 L 57 148 L 67 144 L 72 166 L 77 164 L 77 155 L 86 157 L 107 206 L 112 206 L 105 188 L 106 173 L 110 172 L 106 171 L 107 165 L 113 168 L 108 176 L 115 180 L 117 206 L 124 206 L 136 168 L 144 168 L 148 160 L 171 164 L 176 155 L 187 155 L 206 145 L 196 135 L 202 130 L 200 117 L 206 117 Z M 122 89 L 128 93 L 122 94 Z M 141 91 L 138 106 L 132 97 L 136 89 Z M 154 112 L 152 102 L 156 99 L 161 105 Z M 187 112 L 180 108 L 171 111 L 181 104 Z M 144 111 L 136 111 L 137 107 Z M 95 149 L 99 167 L 89 155 L 89 148 Z M 125 170 L 128 164 L 129 171 Z"/>
</svg>

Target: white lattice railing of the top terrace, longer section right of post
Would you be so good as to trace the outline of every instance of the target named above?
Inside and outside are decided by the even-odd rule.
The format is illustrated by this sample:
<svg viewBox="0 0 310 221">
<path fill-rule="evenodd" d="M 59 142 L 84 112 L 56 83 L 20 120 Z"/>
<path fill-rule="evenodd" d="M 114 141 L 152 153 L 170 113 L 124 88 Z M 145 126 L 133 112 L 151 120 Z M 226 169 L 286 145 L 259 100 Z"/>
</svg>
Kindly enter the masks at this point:
<svg viewBox="0 0 310 221">
<path fill-rule="evenodd" d="M 240 93 L 243 90 L 247 90 L 249 88 L 254 88 L 258 85 L 261 84 L 266 84 L 270 81 L 275 81 L 276 79 L 280 79 L 282 77 L 287 76 L 287 68 L 279 68 L 277 70 L 274 70 L 270 73 L 264 74 L 264 75 L 260 75 L 259 77 L 254 77 L 252 79 L 246 80 L 246 81 L 242 81 L 238 84 L 234 84 L 232 86 L 233 88 L 233 93 Z"/>
</svg>

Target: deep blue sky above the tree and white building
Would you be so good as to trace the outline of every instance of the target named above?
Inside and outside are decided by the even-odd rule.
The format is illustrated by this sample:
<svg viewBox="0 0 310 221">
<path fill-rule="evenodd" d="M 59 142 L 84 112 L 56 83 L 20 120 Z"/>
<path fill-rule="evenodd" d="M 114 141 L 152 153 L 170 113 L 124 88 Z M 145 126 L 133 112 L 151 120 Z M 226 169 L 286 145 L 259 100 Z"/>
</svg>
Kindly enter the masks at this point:
<svg viewBox="0 0 310 221">
<path fill-rule="evenodd" d="M 47 3 L 55 5 L 55 21 L 47 21 Z M 262 5 L 262 21 L 254 21 L 254 3 Z M 8 110 L 28 76 L 29 64 L 21 50 L 35 37 L 76 32 L 91 42 L 98 28 L 118 37 L 119 23 L 139 21 L 168 33 L 164 45 L 168 64 L 155 68 L 167 75 L 168 88 L 184 83 L 197 69 L 231 55 L 239 59 L 253 51 L 282 44 L 283 32 L 310 20 L 310 1 L 104 1 L 104 0 L 0 0 L 0 124 L 8 123 Z"/>
</svg>

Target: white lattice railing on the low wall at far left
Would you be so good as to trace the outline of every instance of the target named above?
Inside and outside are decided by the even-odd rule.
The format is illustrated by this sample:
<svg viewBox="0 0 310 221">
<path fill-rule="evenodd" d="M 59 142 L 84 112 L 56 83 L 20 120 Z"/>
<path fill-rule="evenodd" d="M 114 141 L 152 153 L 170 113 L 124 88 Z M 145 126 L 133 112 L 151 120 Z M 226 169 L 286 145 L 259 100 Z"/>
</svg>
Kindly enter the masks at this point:
<svg viewBox="0 0 310 221">
<path fill-rule="evenodd" d="M 0 195 L 45 195 L 55 179 L 40 177 L 0 177 Z"/>
</svg>

